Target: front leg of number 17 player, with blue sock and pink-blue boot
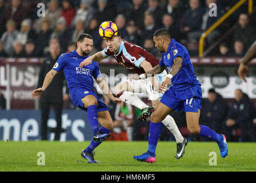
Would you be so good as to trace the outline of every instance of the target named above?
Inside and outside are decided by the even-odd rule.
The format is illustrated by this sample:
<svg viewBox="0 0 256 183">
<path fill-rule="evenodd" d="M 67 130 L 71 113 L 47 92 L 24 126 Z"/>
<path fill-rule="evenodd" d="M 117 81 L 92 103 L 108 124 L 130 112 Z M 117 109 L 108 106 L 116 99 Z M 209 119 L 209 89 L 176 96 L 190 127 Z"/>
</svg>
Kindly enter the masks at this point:
<svg viewBox="0 0 256 183">
<path fill-rule="evenodd" d="M 157 105 L 155 112 L 153 112 L 151 115 L 151 123 L 148 133 L 148 151 L 140 156 L 133 156 L 135 160 L 151 163 L 156 161 L 155 152 L 162 128 L 161 121 L 172 112 L 174 112 L 174 110 L 168 108 L 168 106 L 162 104 L 161 102 Z"/>
</svg>

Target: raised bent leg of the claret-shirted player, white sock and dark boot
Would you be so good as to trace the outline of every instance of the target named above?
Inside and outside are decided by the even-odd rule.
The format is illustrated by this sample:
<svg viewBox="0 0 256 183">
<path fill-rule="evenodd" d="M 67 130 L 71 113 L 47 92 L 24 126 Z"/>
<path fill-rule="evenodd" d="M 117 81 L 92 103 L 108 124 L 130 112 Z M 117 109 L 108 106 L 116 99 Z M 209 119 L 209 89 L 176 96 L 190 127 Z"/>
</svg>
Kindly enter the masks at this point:
<svg viewBox="0 0 256 183">
<path fill-rule="evenodd" d="M 136 106 L 142 110 L 141 114 L 139 115 L 139 120 L 145 120 L 148 116 L 151 116 L 155 108 L 149 107 L 133 93 L 136 92 L 135 90 L 137 88 L 141 89 L 141 79 L 137 81 L 133 79 L 132 82 L 124 81 L 115 86 L 115 95 L 120 98 L 121 101 L 129 105 Z"/>
</svg>

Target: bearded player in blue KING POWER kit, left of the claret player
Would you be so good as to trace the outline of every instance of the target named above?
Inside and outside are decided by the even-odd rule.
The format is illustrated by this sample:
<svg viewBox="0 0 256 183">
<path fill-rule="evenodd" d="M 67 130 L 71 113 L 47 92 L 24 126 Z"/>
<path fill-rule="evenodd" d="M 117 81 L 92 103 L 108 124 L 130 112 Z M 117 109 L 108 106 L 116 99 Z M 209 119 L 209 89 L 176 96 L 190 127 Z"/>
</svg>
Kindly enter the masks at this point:
<svg viewBox="0 0 256 183">
<path fill-rule="evenodd" d="M 97 163 L 94 160 L 93 150 L 104 140 L 110 137 L 113 129 L 113 120 L 109 114 L 107 105 L 97 98 L 93 90 L 93 78 L 101 86 L 104 93 L 120 106 L 123 102 L 113 96 L 107 83 L 100 74 L 100 68 L 97 62 L 92 62 L 88 66 L 80 67 L 80 63 L 88 58 L 92 50 L 93 39 L 89 34 L 81 34 L 77 41 L 77 50 L 61 54 L 53 69 L 46 74 L 42 87 L 32 93 L 32 97 L 42 94 L 50 85 L 54 76 L 61 70 L 64 71 L 70 97 L 73 104 L 78 108 L 87 111 L 88 121 L 93 129 L 93 140 L 89 146 L 81 152 L 81 156 L 89 163 Z M 99 129 L 99 123 L 102 125 Z"/>
</svg>

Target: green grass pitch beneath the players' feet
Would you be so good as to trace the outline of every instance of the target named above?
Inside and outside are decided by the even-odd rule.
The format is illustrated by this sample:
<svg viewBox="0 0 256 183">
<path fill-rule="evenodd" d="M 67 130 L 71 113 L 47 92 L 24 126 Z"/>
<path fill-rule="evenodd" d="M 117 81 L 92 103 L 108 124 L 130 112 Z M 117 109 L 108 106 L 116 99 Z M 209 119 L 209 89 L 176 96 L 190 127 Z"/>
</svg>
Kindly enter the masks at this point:
<svg viewBox="0 0 256 183">
<path fill-rule="evenodd" d="M 256 143 L 228 142 L 229 156 L 222 158 L 215 142 L 188 142 L 186 153 L 176 160 L 176 143 L 160 141 L 155 164 L 137 162 L 132 158 L 147 151 L 147 141 L 103 142 L 95 151 L 94 158 L 99 164 L 87 164 L 81 158 L 80 153 L 88 144 L 89 141 L 0 141 L 0 171 L 256 171 Z M 45 153 L 45 166 L 37 164 L 38 152 Z M 216 152 L 217 165 L 209 164 L 210 152 Z"/>
</svg>

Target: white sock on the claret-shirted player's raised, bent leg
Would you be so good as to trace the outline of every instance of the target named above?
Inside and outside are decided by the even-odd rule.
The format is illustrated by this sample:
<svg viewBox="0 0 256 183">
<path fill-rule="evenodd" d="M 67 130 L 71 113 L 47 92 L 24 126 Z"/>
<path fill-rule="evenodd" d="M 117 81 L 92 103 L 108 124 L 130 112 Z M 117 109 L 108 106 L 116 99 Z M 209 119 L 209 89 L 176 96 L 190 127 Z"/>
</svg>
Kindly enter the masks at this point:
<svg viewBox="0 0 256 183">
<path fill-rule="evenodd" d="M 145 104 L 143 101 L 140 100 L 139 97 L 137 97 L 134 93 L 124 91 L 123 94 L 119 97 L 121 101 L 129 104 L 129 105 L 134 105 L 137 108 L 144 109 L 144 108 L 149 108 L 147 104 Z"/>
</svg>

